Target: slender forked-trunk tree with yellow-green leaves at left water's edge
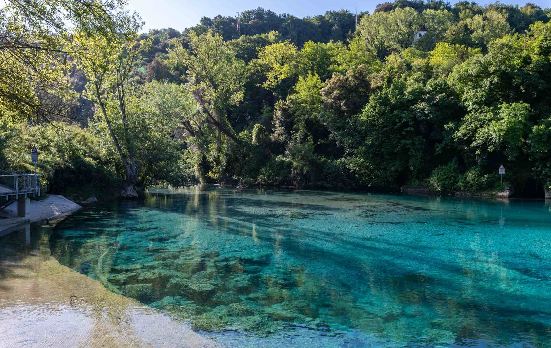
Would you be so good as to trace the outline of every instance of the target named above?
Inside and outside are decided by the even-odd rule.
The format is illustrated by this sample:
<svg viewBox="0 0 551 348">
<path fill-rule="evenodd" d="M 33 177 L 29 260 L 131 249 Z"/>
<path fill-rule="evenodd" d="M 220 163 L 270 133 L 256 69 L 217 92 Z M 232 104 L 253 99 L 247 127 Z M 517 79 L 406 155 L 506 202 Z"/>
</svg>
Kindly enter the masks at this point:
<svg viewBox="0 0 551 348">
<path fill-rule="evenodd" d="M 131 130 L 133 112 L 129 110 L 129 99 L 134 95 L 129 78 L 135 63 L 151 43 L 138 41 L 141 28 L 142 23 L 134 17 L 128 18 L 121 35 L 98 38 L 83 33 L 74 39 L 74 44 L 86 52 L 76 57 L 78 67 L 89 81 L 84 95 L 99 106 L 98 113 L 125 168 L 123 188 L 118 193 L 121 197 L 137 197 L 135 186 L 139 181 L 138 149 Z"/>
</svg>

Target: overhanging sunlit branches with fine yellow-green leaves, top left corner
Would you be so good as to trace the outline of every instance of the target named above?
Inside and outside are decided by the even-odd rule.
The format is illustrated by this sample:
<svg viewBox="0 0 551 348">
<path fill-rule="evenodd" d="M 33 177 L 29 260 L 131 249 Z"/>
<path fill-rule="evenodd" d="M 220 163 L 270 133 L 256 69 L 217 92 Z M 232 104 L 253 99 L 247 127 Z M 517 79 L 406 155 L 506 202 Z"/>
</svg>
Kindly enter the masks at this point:
<svg viewBox="0 0 551 348">
<path fill-rule="evenodd" d="M 87 58 L 75 34 L 107 39 L 139 22 L 118 1 L 18 0 L 0 8 L 0 122 L 66 120 L 76 93 L 71 58 Z"/>
</svg>

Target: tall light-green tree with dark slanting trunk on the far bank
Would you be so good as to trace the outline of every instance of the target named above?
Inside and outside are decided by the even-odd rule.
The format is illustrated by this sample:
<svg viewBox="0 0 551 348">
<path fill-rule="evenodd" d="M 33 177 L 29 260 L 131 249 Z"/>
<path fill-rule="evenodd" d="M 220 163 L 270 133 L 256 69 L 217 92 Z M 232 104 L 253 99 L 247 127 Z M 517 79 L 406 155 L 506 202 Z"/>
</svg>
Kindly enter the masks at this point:
<svg viewBox="0 0 551 348">
<path fill-rule="evenodd" d="M 234 142 L 239 144 L 240 139 L 229 124 L 227 110 L 239 104 L 244 97 L 247 77 L 245 62 L 236 58 L 222 36 L 212 30 L 201 35 L 190 33 L 188 45 L 189 50 L 182 44 L 169 50 L 173 65 L 187 67 L 187 86 L 197 102 L 197 109 L 188 117 L 184 128 L 210 162 L 212 170 L 207 176 L 225 182 L 226 167 L 240 160 L 238 154 L 231 150 Z M 197 117 L 203 120 L 198 121 Z M 213 131 L 216 132 L 215 141 L 212 139 Z M 199 163 L 203 162 L 197 165 Z M 197 170 L 197 173 L 205 172 Z M 204 181 L 205 177 L 201 180 Z"/>
</svg>

